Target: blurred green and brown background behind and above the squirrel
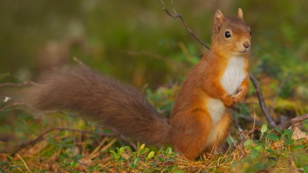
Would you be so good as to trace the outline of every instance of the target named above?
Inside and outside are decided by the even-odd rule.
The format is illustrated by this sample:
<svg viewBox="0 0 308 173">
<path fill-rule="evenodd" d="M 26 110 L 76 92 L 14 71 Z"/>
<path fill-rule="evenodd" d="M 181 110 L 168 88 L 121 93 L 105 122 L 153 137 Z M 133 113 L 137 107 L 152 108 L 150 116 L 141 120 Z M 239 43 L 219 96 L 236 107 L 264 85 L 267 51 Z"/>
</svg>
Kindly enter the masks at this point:
<svg viewBox="0 0 308 173">
<path fill-rule="evenodd" d="M 171 10 L 170 1 L 165 4 Z M 307 99 L 307 1 L 194 0 L 175 6 L 208 44 L 215 11 L 234 16 L 241 7 L 253 33 L 252 71 L 270 88 L 287 78 L 281 96 Z M 157 88 L 181 83 L 206 51 L 158 0 L 3 0 L 0 21 L 0 73 L 25 81 L 78 57 L 137 87 Z M 12 76 L 3 81 L 20 82 Z"/>
</svg>

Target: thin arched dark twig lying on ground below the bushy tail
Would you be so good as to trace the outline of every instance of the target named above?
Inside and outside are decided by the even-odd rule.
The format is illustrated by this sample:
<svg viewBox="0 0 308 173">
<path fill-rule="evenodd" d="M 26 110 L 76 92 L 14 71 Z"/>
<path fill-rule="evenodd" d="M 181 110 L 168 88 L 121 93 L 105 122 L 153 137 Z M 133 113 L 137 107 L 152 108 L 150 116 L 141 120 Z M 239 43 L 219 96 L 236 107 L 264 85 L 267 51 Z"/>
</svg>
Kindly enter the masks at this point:
<svg viewBox="0 0 308 173">
<path fill-rule="evenodd" d="M 22 150 L 23 148 L 26 148 L 27 146 L 33 146 L 35 145 L 37 142 L 42 141 L 46 134 L 55 131 L 55 130 L 68 130 L 68 131 L 78 131 L 78 132 L 82 132 L 82 133 L 89 133 L 89 134 L 97 134 L 99 136 L 116 136 L 117 134 L 114 133 L 99 133 L 99 132 L 93 132 L 93 131 L 87 131 L 87 130 L 79 130 L 79 129 L 73 129 L 73 128 L 66 128 L 66 127 L 55 127 L 55 128 L 51 128 L 49 130 L 44 131 L 43 133 L 41 133 L 37 138 L 31 140 L 31 141 L 27 141 L 25 143 L 20 144 L 13 152 L 12 152 L 12 156 L 17 153 L 18 151 Z"/>
</svg>

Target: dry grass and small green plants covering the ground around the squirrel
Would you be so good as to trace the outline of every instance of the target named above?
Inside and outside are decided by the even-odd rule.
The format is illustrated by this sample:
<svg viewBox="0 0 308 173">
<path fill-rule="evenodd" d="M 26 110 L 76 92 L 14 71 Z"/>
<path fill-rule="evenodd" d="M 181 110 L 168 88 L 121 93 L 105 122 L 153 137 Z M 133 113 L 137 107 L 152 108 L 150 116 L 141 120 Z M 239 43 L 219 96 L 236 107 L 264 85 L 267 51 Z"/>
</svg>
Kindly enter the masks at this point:
<svg viewBox="0 0 308 173">
<path fill-rule="evenodd" d="M 174 85 L 156 92 L 147 90 L 147 95 L 168 116 L 178 88 Z M 302 131 L 287 129 L 281 136 L 266 125 L 261 128 L 264 119 L 260 110 L 250 108 L 256 100 L 251 96 L 238 105 L 241 113 L 234 111 L 234 125 L 223 146 L 213 148 L 196 161 L 167 147 L 146 149 L 139 145 L 137 151 L 121 148 L 131 143 L 67 113 L 44 112 L 37 117 L 37 113 L 23 111 L 24 107 L 8 107 L 0 113 L 17 117 L 15 126 L 1 128 L 8 139 L 0 143 L 0 172 L 307 172 L 308 137 L 302 132 L 307 130 L 307 123 L 295 125 Z M 27 145 L 11 155 L 20 144 Z M 150 151 L 155 155 L 149 156 Z"/>
</svg>

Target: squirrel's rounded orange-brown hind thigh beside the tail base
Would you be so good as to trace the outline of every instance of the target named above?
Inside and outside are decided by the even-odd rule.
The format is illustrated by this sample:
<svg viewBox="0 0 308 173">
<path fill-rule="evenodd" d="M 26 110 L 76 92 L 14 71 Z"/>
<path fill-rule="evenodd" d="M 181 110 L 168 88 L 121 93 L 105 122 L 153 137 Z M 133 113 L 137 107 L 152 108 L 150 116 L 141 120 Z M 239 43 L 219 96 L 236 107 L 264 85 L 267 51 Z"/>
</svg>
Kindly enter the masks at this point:
<svg viewBox="0 0 308 173">
<path fill-rule="evenodd" d="M 187 159 L 194 160 L 204 150 L 213 129 L 209 113 L 196 110 L 190 114 L 177 114 L 171 124 L 171 141 L 176 150 Z"/>
</svg>

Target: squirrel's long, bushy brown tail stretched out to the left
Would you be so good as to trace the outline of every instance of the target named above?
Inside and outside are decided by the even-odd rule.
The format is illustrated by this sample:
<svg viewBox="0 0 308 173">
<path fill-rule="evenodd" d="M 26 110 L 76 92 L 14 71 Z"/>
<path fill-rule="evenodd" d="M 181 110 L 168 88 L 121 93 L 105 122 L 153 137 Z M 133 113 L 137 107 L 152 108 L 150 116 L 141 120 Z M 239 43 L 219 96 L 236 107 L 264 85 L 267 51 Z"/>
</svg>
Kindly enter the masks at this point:
<svg viewBox="0 0 308 173">
<path fill-rule="evenodd" d="M 140 142 L 168 143 L 170 125 L 143 95 L 88 67 L 54 72 L 25 94 L 35 108 L 77 111 Z"/>
</svg>

